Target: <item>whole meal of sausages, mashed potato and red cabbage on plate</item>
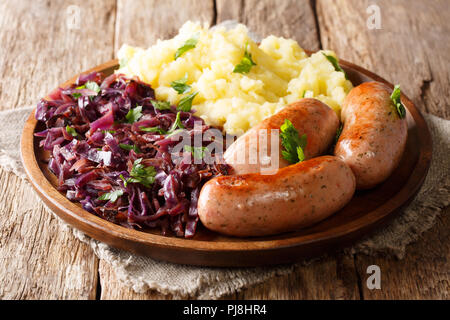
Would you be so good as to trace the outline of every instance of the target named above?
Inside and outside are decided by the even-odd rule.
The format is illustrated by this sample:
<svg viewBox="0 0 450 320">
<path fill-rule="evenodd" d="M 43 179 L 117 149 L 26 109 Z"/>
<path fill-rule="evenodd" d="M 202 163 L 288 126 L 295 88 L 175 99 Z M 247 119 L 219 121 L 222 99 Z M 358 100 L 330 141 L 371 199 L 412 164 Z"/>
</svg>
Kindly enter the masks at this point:
<svg viewBox="0 0 450 320">
<path fill-rule="evenodd" d="M 36 132 L 58 190 L 137 230 L 194 237 L 300 230 L 382 183 L 407 141 L 400 89 L 353 87 L 331 51 L 186 23 L 112 75 L 42 99 Z"/>
</svg>

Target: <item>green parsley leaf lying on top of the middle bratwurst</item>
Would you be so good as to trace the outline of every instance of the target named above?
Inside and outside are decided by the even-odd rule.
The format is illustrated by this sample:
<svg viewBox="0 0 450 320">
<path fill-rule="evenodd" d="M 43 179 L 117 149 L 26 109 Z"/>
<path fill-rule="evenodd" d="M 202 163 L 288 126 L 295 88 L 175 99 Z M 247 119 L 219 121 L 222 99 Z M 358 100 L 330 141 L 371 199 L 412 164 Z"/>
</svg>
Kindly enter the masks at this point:
<svg viewBox="0 0 450 320">
<path fill-rule="evenodd" d="M 284 120 L 280 130 L 281 144 L 284 147 L 284 150 L 281 151 L 283 158 L 290 163 L 297 163 L 305 160 L 303 151 L 306 148 L 307 143 L 306 134 L 299 136 L 297 129 L 295 129 L 288 119 Z"/>
</svg>

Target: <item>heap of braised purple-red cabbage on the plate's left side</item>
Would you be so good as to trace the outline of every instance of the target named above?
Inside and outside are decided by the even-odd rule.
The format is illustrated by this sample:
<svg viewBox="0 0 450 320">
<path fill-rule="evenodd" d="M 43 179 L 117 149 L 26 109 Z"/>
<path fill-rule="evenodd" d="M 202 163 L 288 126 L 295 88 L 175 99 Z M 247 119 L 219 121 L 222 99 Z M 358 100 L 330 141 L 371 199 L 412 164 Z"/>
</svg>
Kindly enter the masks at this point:
<svg viewBox="0 0 450 320">
<path fill-rule="evenodd" d="M 35 136 L 43 138 L 48 167 L 69 200 L 126 227 L 189 238 L 202 185 L 229 167 L 196 164 L 187 151 L 172 157 L 179 143 L 174 132 L 194 137 L 210 127 L 193 111 L 159 110 L 155 101 L 153 89 L 137 78 L 84 74 L 38 103 L 36 119 L 46 129 Z M 194 122 L 201 123 L 195 130 Z M 223 151 L 223 140 L 214 143 Z"/>
</svg>

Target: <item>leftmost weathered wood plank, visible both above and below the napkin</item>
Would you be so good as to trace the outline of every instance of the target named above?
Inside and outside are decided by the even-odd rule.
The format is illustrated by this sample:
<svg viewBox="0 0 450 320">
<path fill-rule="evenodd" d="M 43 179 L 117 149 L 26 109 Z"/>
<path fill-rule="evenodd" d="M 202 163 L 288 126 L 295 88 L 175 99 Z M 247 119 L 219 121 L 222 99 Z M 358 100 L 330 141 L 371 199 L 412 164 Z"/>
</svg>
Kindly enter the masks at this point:
<svg viewBox="0 0 450 320">
<path fill-rule="evenodd" d="M 113 57 L 114 0 L 1 1 L 0 12 L 0 109 Z M 95 299 L 92 250 L 16 176 L 0 170 L 0 188 L 0 298 Z"/>
</svg>

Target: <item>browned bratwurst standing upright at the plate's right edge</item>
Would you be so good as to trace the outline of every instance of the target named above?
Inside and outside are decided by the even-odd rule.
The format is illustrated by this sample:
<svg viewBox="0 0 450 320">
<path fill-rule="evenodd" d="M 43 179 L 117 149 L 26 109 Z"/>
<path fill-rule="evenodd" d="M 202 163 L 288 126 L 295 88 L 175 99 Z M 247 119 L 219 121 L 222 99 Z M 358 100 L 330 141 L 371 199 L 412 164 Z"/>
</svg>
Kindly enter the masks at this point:
<svg viewBox="0 0 450 320">
<path fill-rule="evenodd" d="M 408 128 L 383 83 L 353 88 L 342 104 L 344 127 L 334 154 L 350 166 L 357 189 L 369 189 L 389 177 L 405 149 Z"/>
</svg>

